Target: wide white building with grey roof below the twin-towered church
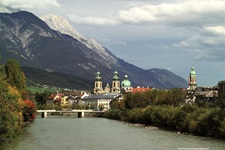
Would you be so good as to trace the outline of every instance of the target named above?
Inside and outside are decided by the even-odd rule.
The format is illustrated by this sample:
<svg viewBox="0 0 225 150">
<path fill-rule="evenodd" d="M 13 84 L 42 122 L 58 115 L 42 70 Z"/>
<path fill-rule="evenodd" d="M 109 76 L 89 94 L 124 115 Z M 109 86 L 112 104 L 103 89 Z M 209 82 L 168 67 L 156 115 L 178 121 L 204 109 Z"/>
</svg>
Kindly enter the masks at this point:
<svg viewBox="0 0 225 150">
<path fill-rule="evenodd" d="M 90 95 L 81 99 L 81 103 L 89 106 L 93 110 L 108 110 L 110 108 L 110 102 L 113 99 L 121 98 L 121 94 L 118 93 L 106 93 L 101 95 Z"/>
</svg>

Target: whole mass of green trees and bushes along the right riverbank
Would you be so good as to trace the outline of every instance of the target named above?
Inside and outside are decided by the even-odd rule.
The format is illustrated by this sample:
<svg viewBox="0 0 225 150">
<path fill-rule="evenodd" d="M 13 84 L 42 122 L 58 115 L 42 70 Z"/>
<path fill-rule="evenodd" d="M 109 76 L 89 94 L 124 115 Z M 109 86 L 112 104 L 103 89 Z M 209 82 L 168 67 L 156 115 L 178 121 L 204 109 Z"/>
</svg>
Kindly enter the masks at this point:
<svg viewBox="0 0 225 150">
<path fill-rule="evenodd" d="M 185 103 L 185 92 L 180 89 L 152 90 L 128 93 L 123 100 L 111 101 L 105 117 L 131 123 L 200 136 L 225 138 L 225 108 L 222 99 L 210 105 L 196 100 Z"/>
</svg>

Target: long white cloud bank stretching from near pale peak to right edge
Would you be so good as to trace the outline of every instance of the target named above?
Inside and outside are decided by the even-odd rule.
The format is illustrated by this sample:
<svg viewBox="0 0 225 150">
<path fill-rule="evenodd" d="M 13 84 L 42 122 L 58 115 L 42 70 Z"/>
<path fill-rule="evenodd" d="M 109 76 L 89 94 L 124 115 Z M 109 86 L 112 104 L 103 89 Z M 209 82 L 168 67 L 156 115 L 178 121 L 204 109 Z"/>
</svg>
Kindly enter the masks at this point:
<svg viewBox="0 0 225 150">
<path fill-rule="evenodd" d="M 224 13 L 225 1 L 223 0 L 190 0 L 160 4 L 129 2 L 124 4 L 123 9 L 118 9 L 117 14 L 113 17 L 107 16 L 107 13 L 96 14 L 97 16 L 69 14 L 68 17 L 74 23 L 95 26 L 119 25 L 122 23 L 195 26 L 214 22 L 222 23 L 225 20 L 225 16 L 222 15 Z"/>
</svg>

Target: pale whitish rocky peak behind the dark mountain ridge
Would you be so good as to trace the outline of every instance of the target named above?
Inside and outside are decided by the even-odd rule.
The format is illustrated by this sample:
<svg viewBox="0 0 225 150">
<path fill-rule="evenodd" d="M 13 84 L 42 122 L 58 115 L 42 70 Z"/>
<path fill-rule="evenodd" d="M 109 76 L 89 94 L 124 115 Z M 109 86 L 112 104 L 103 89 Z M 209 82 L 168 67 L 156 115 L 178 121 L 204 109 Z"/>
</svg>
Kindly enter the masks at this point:
<svg viewBox="0 0 225 150">
<path fill-rule="evenodd" d="M 79 42 L 86 45 L 89 49 L 92 49 L 99 55 L 101 55 L 102 58 L 110 59 L 110 61 L 116 62 L 116 58 L 113 57 L 105 47 L 99 44 L 94 38 L 87 39 L 85 36 L 80 34 L 65 18 L 53 14 L 48 14 L 46 16 L 40 17 L 40 19 L 46 22 L 51 29 L 59 31 L 63 34 L 68 34 L 77 39 Z"/>
</svg>

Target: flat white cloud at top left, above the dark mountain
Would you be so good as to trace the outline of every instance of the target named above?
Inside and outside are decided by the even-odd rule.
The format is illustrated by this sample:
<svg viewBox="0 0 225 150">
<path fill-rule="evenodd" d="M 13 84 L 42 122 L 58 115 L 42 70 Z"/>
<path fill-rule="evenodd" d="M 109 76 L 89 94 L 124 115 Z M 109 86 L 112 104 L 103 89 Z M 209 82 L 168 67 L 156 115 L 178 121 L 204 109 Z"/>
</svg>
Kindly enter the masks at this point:
<svg viewBox="0 0 225 150">
<path fill-rule="evenodd" d="M 0 4 L 18 9 L 60 7 L 57 0 L 1 0 Z"/>
</svg>

